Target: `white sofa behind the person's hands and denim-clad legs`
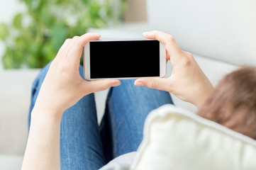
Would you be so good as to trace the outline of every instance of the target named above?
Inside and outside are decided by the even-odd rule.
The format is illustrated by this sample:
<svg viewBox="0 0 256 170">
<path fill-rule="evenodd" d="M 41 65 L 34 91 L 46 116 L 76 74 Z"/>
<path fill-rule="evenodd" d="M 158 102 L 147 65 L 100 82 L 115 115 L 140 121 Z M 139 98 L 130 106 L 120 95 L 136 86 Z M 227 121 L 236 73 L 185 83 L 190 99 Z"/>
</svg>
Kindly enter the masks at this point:
<svg viewBox="0 0 256 170">
<path fill-rule="evenodd" d="M 191 52 L 213 85 L 243 64 L 256 66 L 256 1 L 148 0 L 148 23 L 91 31 L 102 38 L 137 38 L 145 30 L 174 35 Z M 168 64 L 171 72 L 171 65 Z M 38 69 L 0 72 L 0 169 L 19 169 L 26 145 L 30 84 Z M 99 119 L 107 91 L 96 94 Z M 174 103 L 195 112 L 189 103 Z"/>
</svg>

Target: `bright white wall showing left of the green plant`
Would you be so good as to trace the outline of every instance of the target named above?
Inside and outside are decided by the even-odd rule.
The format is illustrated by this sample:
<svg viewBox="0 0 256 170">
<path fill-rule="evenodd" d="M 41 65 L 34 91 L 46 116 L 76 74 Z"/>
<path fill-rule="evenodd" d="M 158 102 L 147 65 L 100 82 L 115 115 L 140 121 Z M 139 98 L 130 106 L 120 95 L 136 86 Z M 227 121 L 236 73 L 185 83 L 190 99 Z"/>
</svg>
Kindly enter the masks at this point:
<svg viewBox="0 0 256 170">
<path fill-rule="evenodd" d="M 10 23 L 13 16 L 18 11 L 23 11 L 25 6 L 18 0 L 0 1 L 0 23 Z M 0 60 L 4 54 L 4 44 L 0 41 Z M 0 72 L 3 69 L 2 62 L 0 61 Z"/>
</svg>

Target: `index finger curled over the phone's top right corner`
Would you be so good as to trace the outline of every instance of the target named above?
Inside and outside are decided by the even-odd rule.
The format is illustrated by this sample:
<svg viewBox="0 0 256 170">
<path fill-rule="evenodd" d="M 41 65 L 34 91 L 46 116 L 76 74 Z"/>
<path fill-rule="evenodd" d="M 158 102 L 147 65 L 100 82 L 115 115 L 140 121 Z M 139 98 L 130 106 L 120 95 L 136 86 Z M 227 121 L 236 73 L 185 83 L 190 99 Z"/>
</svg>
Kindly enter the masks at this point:
<svg viewBox="0 0 256 170">
<path fill-rule="evenodd" d="M 162 42 L 165 45 L 172 64 L 179 62 L 179 60 L 181 60 L 181 57 L 183 57 L 182 50 L 180 49 L 179 45 L 174 40 L 172 35 L 163 33 L 159 30 L 152 30 L 143 33 L 143 36 L 145 38 L 156 39 Z"/>
</svg>

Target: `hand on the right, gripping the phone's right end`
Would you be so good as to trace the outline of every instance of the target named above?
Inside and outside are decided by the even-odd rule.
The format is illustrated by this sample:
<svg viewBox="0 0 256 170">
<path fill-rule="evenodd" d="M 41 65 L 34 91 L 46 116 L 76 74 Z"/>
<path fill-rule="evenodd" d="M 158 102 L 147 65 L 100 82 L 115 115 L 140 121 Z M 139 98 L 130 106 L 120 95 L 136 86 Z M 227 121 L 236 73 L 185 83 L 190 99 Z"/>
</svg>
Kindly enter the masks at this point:
<svg viewBox="0 0 256 170">
<path fill-rule="evenodd" d="M 213 86 L 204 72 L 194 60 L 193 55 L 179 48 L 172 35 L 153 30 L 143 33 L 145 38 L 156 39 L 165 45 L 167 60 L 173 66 L 171 77 L 140 78 L 135 81 L 136 86 L 148 86 L 152 89 L 169 91 L 183 101 L 200 107 L 213 91 Z"/>
</svg>

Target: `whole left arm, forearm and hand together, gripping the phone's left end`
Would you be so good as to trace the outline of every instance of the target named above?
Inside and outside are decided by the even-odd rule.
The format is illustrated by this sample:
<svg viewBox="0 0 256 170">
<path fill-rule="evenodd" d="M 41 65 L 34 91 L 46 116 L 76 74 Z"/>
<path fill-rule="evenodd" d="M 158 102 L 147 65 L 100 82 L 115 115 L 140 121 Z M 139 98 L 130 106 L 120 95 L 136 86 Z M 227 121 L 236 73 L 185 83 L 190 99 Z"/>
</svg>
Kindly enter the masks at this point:
<svg viewBox="0 0 256 170">
<path fill-rule="evenodd" d="M 117 79 L 85 81 L 79 74 L 84 45 L 100 36 L 87 33 L 65 40 L 50 64 L 31 114 L 23 170 L 60 169 L 60 122 L 63 111 L 87 94 L 121 84 Z"/>
</svg>

